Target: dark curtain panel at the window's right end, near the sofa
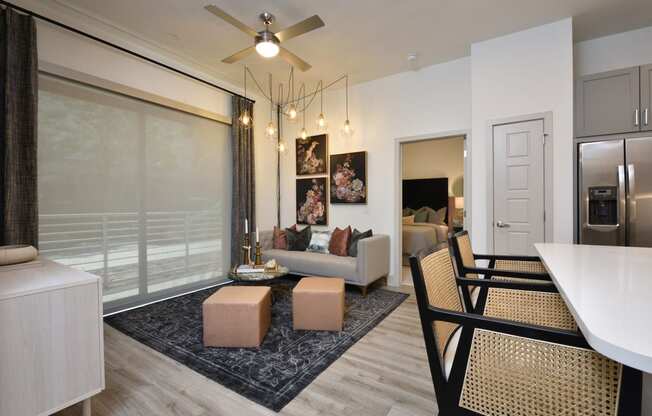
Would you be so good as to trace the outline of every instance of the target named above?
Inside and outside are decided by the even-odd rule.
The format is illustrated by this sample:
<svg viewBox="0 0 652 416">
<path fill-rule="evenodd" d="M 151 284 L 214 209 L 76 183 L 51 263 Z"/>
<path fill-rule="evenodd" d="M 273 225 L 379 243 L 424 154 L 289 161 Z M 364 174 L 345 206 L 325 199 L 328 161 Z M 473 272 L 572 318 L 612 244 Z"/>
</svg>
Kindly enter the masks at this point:
<svg viewBox="0 0 652 416">
<path fill-rule="evenodd" d="M 249 220 L 249 232 L 251 233 L 256 229 L 254 133 L 253 127 L 244 127 L 240 123 L 240 115 L 245 110 L 253 116 L 254 106 L 251 101 L 235 96 L 233 97 L 232 103 L 233 189 L 231 205 L 231 265 L 237 265 L 241 262 L 240 256 L 242 239 L 244 237 L 245 218 Z"/>
</svg>

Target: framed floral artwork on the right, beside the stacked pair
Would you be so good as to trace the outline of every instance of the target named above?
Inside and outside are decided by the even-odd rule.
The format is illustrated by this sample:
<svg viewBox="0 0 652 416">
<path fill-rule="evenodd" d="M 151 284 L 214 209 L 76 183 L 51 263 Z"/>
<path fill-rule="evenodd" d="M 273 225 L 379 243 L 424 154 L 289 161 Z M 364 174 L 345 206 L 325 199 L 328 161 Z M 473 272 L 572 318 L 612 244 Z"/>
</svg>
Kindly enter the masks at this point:
<svg viewBox="0 0 652 416">
<path fill-rule="evenodd" d="M 331 155 L 331 204 L 367 203 L 367 152 Z"/>
</svg>

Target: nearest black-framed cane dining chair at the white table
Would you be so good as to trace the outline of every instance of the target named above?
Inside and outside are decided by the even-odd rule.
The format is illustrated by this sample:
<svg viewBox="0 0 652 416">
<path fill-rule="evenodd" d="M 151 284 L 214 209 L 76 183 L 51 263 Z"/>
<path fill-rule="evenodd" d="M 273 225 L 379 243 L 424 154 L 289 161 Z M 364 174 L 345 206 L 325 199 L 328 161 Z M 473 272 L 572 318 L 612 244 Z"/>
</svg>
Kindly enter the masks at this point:
<svg viewBox="0 0 652 416">
<path fill-rule="evenodd" d="M 465 312 L 446 249 L 410 266 L 440 416 L 640 415 L 640 371 L 577 331 Z"/>
</svg>

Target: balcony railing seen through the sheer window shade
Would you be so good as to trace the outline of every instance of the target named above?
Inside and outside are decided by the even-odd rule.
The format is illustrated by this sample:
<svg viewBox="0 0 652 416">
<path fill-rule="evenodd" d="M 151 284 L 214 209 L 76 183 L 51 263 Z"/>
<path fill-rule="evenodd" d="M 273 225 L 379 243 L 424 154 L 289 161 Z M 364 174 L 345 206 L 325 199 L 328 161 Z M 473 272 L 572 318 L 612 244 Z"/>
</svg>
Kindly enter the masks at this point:
<svg viewBox="0 0 652 416">
<path fill-rule="evenodd" d="M 105 301 L 214 279 L 226 274 L 220 211 L 44 214 L 40 253 L 101 276 Z"/>
</svg>

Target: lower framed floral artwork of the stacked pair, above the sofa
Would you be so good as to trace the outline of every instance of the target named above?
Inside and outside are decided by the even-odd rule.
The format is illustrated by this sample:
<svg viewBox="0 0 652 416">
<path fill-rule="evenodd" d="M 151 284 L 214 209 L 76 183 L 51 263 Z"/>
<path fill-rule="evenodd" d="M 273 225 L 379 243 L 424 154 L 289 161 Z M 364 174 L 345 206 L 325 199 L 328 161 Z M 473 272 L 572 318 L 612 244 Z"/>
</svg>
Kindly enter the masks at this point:
<svg viewBox="0 0 652 416">
<path fill-rule="evenodd" d="M 328 224 L 326 178 L 297 179 L 297 224 Z"/>
</svg>

